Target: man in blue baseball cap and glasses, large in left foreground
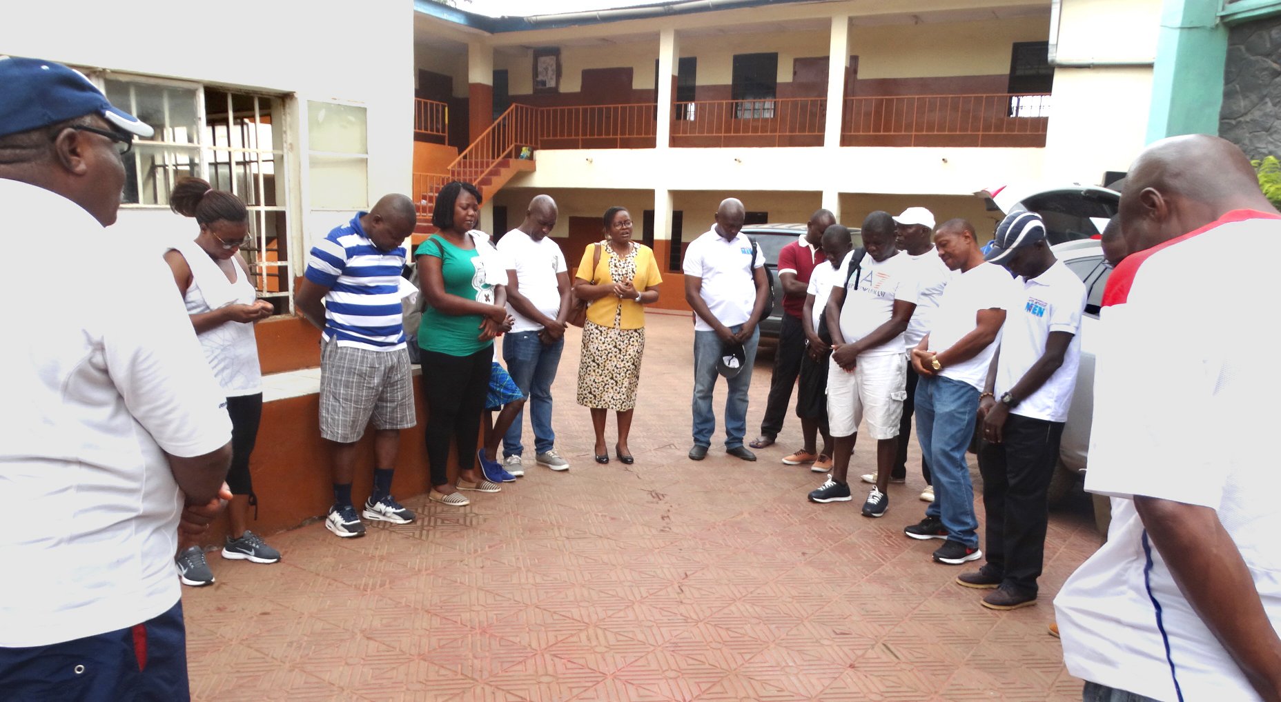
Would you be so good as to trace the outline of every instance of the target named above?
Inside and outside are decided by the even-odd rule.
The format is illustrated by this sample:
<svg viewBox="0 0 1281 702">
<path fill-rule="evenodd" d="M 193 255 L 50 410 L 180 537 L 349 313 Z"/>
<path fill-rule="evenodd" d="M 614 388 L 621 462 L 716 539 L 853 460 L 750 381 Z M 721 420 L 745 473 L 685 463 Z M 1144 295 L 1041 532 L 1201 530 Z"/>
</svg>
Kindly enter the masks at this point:
<svg viewBox="0 0 1281 702">
<path fill-rule="evenodd" d="M 190 698 L 173 553 L 218 514 L 231 423 L 164 261 L 104 232 L 151 133 L 76 70 L 0 56 L 6 698 Z"/>
</svg>

